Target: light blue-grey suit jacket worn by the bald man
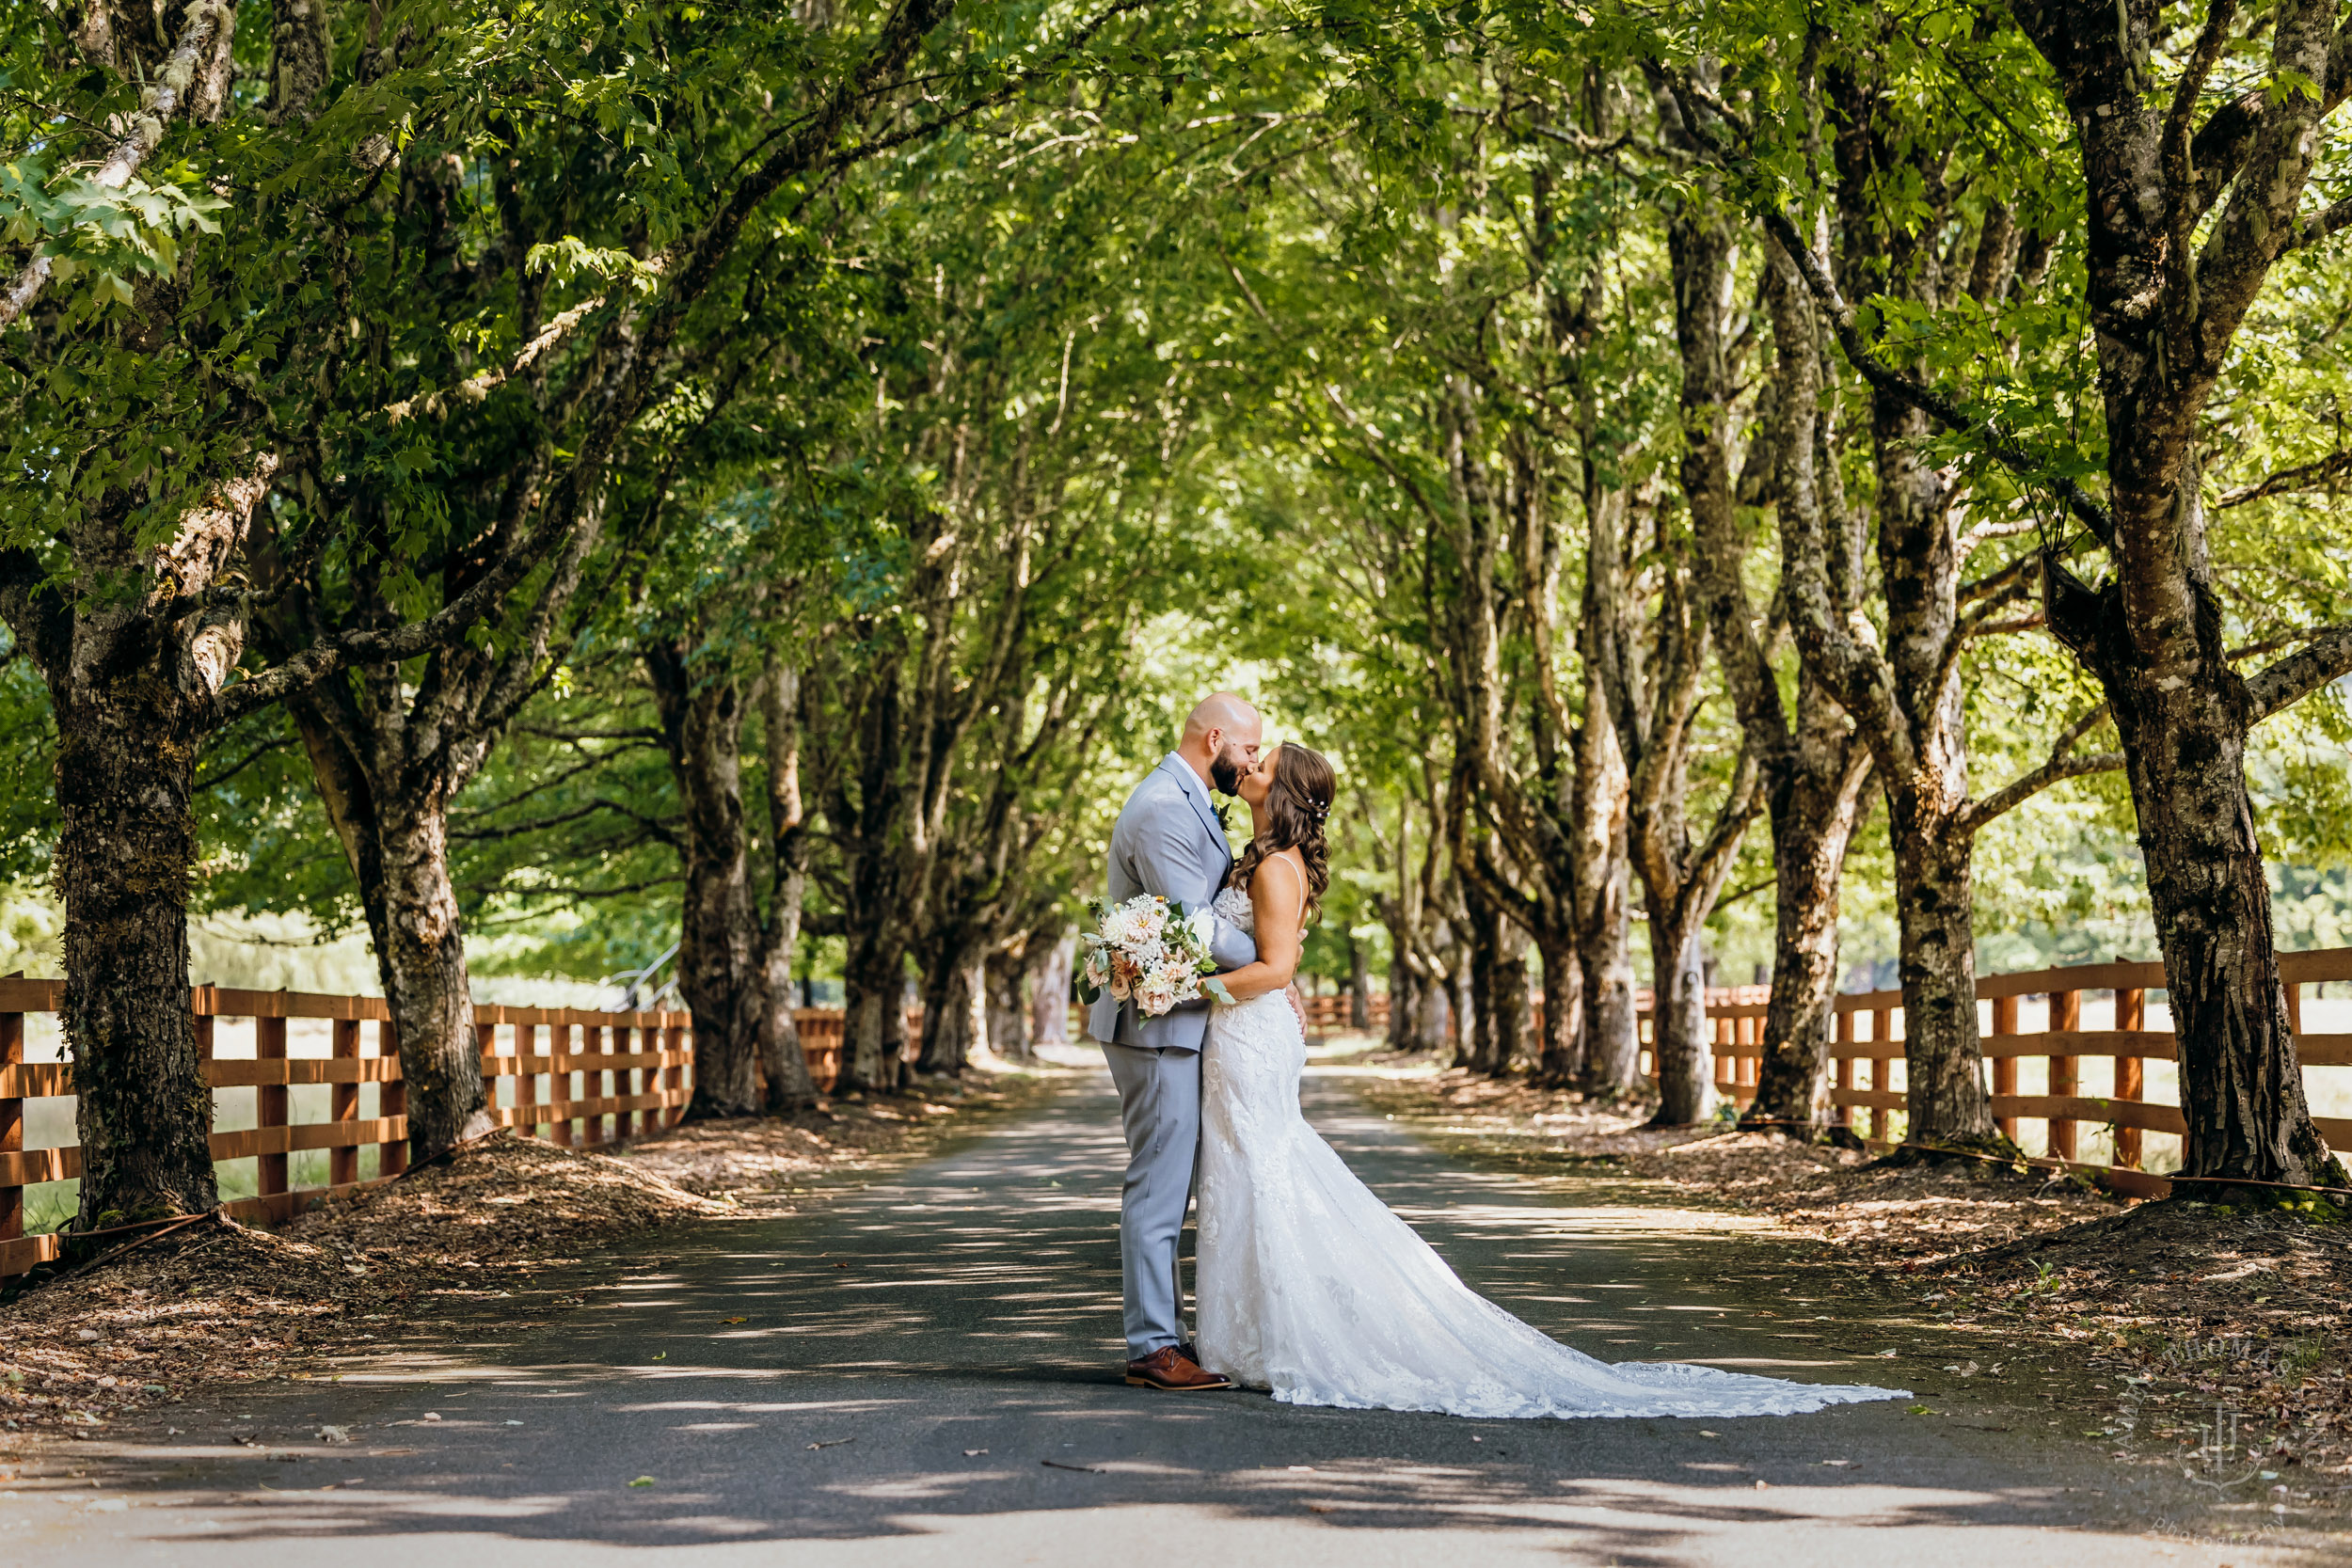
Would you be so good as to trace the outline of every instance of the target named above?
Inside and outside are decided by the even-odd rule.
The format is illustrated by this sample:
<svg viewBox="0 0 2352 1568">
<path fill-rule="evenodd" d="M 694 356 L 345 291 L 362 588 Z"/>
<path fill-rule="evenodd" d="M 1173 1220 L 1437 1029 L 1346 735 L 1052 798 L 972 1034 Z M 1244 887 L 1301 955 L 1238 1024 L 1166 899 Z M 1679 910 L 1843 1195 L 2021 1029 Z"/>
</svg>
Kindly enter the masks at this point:
<svg viewBox="0 0 2352 1568">
<path fill-rule="evenodd" d="M 1209 785 L 1185 766 L 1183 757 L 1169 752 L 1127 797 L 1110 830 L 1110 903 L 1157 893 L 1185 910 L 1207 910 L 1230 870 L 1232 846 L 1216 825 Z M 1225 922 L 1216 922 L 1209 952 L 1221 973 L 1258 961 L 1251 933 Z M 1087 1034 L 1122 1046 L 1200 1051 L 1207 1032 L 1207 999 L 1185 1001 L 1160 1018 L 1143 1018 L 1134 1001 L 1112 1001 L 1110 992 L 1103 992 L 1087 1011 Z"/>
</svg>

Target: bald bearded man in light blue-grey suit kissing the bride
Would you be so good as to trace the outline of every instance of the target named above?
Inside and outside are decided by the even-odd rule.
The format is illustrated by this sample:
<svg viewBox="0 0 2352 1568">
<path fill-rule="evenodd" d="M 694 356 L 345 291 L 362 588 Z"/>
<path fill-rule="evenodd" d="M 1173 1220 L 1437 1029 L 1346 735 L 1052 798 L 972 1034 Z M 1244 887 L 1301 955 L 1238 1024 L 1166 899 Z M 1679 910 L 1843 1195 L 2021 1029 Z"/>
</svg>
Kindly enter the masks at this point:
<svg viewBox="0 0 2352 1568">
<path fill-rule="evenodd" d="M 1209 790 L 1232 795 L 1258 769 L 1258 710 L 1218 691 L 1192 710 L 1183 741 L 1127 797 L 1110 830 L 1110 903 L 1157 893 L 1207 910 L 1225 886 L 1232 849 Z M 1247 931 L 1216 922 L 1209 943 L 1218 969 L 1258 957 Z M 1200 1154 L 1200 1046 L 1209 1004 L 1188 1001 L 1145 1018 L 1134 1001 L 1096 997 L 1087 1032 L 1103 1041 L 1127 1126 L 1127 1187 L 1120 1192 L 1120 1272 L 1127 1293 L 1127 1380 L 1148 1389 L 1225 1389 L 1183 1342 L 1183 1279 L 1176 1239 L 1192 1197 Z"/>
</svg>

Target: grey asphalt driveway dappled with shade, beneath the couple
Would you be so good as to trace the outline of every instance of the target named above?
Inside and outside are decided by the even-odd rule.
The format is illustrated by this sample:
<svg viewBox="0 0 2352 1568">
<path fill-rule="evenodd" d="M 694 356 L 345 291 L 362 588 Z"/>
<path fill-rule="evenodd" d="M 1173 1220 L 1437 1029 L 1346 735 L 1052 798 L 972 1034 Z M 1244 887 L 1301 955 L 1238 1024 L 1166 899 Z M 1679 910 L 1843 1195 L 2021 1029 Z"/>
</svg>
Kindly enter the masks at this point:
<svg viewBox="0 0 2352 1568">
<path fill-rule="evenodd" d="M 468 1347 L 92 1443 L 73 1486 L 0 1500 L 0 1540 L 26 1563 L 191 1568 L 289 1552 L 402 1568 L 2296 1561 L 2183 1537 L 2216 1523 L 2197 1488 L 2110 1465 L 2077 1432 L 2096 1413 L 1962 1387 L 1933 1368 L 1933 1328 L 1820 1291 L 1740 1218 L 1463 1168 L 1364 1112 L 1343 1074 L 1308 1093 L 1456 1267 L 1595 1354 L 1924 1396 L 1486 1422 L 1129 1389 L 1122 1147 L 1098 1079 L 809 1213 L 670 1237 L 659 1267 L 586 1281 L 586 1305 L 543 1328 L 513 1333 L 515 1302 Z"/>
</svg>

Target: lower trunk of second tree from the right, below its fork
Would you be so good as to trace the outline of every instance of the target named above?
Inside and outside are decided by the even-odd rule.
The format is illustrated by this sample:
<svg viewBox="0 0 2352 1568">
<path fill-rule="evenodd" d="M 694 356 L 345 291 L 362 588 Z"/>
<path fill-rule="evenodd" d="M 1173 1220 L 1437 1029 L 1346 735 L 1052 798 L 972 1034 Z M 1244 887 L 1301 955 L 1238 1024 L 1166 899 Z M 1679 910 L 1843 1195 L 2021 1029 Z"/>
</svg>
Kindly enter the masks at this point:
<svg viewBox="0 0 2352 1568">
<path fill-rule="evenodd" d="M 1966 835 L 1889 792 L 1903 969 L 1905 1143 L 1999 1150 L 1976 1032 L 1976 924 Z"/>
</svg>

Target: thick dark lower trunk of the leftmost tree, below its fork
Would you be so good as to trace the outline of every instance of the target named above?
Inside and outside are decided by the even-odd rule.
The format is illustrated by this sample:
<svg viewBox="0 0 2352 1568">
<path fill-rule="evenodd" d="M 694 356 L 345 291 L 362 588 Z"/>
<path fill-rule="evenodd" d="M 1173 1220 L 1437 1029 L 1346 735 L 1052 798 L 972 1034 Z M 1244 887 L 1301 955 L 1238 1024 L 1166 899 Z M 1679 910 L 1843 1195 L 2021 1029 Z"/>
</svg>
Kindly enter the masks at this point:
<svg viewBox="0 0 2352 1568">
<path fill-rule="evenodd" d="M 52 689 L 78 1229 L 219 1206 L 212 1091 L 188 1016 L 188 797 L 205 715 L 174 679 L 174 644 L 165 628 L 129 625 L 103 665 L 87 661 L 87 679 Z"/>
</svg>

